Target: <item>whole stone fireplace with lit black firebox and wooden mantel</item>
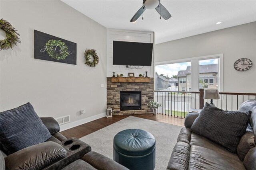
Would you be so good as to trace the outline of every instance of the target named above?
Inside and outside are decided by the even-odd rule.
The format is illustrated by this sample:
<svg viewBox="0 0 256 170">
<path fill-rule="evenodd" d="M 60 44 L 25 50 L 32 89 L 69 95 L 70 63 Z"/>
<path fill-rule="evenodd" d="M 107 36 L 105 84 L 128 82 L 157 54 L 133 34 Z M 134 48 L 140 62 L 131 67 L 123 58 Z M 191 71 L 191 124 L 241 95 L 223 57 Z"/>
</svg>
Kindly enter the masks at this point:
<svg viewBox="0 0 256 170">
<path fill-rule="evenodd" d="M 134 79 L 143 80 L 143 78 Z M 147 82 L 114 82 L 112 77 L 107 77 L 107 107 L 113 109 L 113 115 L 152 113 L 148 102 L 154 100 L 154 78 L 147 80 Z"/>
</svg>

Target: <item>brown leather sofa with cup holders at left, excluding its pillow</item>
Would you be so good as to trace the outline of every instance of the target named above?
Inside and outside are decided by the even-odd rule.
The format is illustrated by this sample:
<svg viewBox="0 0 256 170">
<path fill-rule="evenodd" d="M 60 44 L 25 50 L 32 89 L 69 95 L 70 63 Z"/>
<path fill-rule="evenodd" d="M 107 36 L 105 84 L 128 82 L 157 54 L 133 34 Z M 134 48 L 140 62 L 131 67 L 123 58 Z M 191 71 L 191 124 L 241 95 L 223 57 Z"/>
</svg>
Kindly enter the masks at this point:
<svg viewBox="0 0 256 170">
<path fill-rule="evenodd" d="M 67 139 L 52 117 L 40 117 L 51 137 L 44 143 L 24 148 L 13 154 L 0 152 L 0 170 L 128 170 L 74 137 Z"/>
</svg>

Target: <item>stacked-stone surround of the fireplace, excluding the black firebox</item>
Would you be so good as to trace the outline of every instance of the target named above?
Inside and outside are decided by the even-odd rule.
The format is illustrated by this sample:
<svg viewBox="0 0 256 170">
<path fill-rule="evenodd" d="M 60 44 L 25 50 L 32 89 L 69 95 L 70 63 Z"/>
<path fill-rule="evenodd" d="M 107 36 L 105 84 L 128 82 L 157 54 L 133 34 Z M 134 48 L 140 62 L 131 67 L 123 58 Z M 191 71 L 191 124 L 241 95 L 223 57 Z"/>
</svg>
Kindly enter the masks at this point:
<svg viewBox="0 0 256 170">
<path fill-rule="evenodd" d="M 154 78 L 150 82 L 112 82 L 107 77 L 107 107 L 111 107 L 113 115 L 132 115 L 152 113 L 148 102 L 154 100 Z M 141 110 L 120 111 L 120 91 L 141 91 Z"/>
</svg>

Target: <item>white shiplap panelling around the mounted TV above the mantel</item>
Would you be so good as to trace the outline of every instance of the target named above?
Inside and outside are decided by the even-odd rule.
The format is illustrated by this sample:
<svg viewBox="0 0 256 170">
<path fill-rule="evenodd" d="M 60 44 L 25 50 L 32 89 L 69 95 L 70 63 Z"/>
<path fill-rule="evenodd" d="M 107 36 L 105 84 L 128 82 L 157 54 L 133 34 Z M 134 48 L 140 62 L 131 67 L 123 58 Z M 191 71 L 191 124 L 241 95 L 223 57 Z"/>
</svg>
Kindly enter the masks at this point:
<svg viewBox="0 0 256 170">
<path fill-rule="evenodd" d="M 107 29 L 107 76 L 112 77 L 113 71 L 116 70 L 116 74 L 124 74 L 125 77 L 128 76 L 128 72 L 134 72 L 135 77 L 139 74 L 145 74 L 148 70 L 148 77 L 153 77 L 154 74 L 154 47 L 153 45 L 153 56 L 152 56 L 152 66 L 144 66 L 142 69 L 131 69 L 126 68 L 126 66 L 113 65 L 113 41 L 130 41 L 139 43 L 154 43 L 154 32 L 144 32 L 144 31 L 131 31 L 123 29 Z"/>
</svg>

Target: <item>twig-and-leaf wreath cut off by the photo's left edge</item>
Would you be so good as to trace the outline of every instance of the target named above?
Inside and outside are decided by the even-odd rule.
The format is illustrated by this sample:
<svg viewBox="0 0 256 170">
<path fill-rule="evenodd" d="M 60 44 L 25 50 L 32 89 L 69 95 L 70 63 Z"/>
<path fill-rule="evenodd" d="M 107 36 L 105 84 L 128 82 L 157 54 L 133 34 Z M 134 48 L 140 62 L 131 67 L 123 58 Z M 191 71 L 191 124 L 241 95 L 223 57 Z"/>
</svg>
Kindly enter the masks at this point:
<svg viewBox="0 0 256 170">
<path fill-rule="evenodd" d="M 6 34 L 6 39 L 0 40 L 0 50 L 9 48 L 12 49 L 14 45 L 17 45 L 17 43 L 21 43 L 18 37 L 20 36 L 20 34 L 16 32 L 17 30 L 14 27 L 12 27 L 12 25 L 8 21 L 1 19 L 0 29 L 4 30 Z"/>
</svg>

